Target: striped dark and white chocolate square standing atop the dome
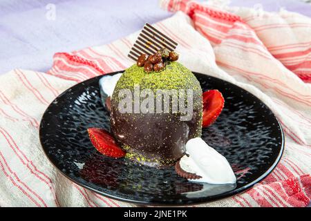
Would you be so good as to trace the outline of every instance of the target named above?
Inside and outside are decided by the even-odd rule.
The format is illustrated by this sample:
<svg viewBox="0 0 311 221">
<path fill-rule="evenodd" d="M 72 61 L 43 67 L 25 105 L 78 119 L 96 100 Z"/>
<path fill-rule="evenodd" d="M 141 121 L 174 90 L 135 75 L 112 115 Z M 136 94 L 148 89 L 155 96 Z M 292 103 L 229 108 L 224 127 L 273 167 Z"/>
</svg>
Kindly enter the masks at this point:
<svg viewBox="0 0 311 221">
<path fill-rule="evenodd" d="M 176 47 L 177 43 L 175 41 L 149 23 L 146 23 L 128 56 L 134 61 L 137 61 L 138 57 L 142 54 L 153 55 L 161 48 L 167 48 L 169 51 L 173 51 Z"/>
</svg>

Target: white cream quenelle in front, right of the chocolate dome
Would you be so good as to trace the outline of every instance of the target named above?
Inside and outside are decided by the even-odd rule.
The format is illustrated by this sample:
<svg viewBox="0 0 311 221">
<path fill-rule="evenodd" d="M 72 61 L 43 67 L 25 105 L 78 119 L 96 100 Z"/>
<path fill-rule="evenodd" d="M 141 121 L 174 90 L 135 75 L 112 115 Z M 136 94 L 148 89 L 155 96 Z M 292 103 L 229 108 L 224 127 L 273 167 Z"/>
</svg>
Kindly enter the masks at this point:
<svg viewBox="0 0 311 221">
<path fill-rule="evenodd" d="M 236 176 L 227 159 L 207 145 L 200 137 L 187 142 L 186 153 L 189 157 L 185 155 L 180 159 L 181 169 L 202 177 L 198 180 L 189 181 L 208 184 L 236 183 Z"/>
</svg>

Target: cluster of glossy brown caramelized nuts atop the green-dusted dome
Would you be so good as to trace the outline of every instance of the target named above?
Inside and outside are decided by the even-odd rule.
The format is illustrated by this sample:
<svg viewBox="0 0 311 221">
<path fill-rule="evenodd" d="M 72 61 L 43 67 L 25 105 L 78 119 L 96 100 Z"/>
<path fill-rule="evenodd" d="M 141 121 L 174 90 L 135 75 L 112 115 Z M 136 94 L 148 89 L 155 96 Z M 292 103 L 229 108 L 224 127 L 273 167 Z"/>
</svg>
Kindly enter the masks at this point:
<svg viewBox="0 0 311 221">
<path fill-rule="evenodd" d="M 153 55 L 140 55 L 137 60 L 137 66 L 144 67 L 146 73 L 151 73 L 153 71 L 160 72 L 164 70 L 169 61 L 177 60 L 178 54 L 176 52 L 169 52 L 167 48 L 162 48 Z"/>
</svg>

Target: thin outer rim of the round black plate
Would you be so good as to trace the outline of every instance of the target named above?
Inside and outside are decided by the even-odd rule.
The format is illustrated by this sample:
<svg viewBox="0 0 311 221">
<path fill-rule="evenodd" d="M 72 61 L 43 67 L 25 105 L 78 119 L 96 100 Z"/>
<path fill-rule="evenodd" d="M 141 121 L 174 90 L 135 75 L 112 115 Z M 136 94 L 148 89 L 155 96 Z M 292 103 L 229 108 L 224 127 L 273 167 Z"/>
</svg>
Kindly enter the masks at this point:
<svg viewBox="0 0 311 221">
<path fill-rule="evenodd" d="M 124 70 L 119 70 L 119 71 L 115 71 L 115 72 L 112 72 L 112 73 L 105 73 L 104 75 L 115 75 L 117 73 L 124 73 Z M 195 72 L 195 71 L 192 71 L 192 73 L 194 73 L 194 75 L 205 75 L 205 76 L 208 76 L 208 77 L 213 77 L 215 79 L 219 79 L 221 81 L 225 81 L 226 83 L 229 83 L 229 84 L 232 84 L 231 82 L 229 81 L 226 81 L 224 79 L 220 79 L 218 77 L 214 77 L 214 76 L 211 76 L 211 75 L 208 75 L 208 74 L 203 74 L 203 73 L 198 73 L 198 72 Z M 64 90 L 64 92 L 60 93 L 59 95 L 57 95 L 57 97 L 55 97 L 55 99 L 53 99 L 52 102 L 50 102 L 50 104 L 48 105 L 48 107 L 46 108 L 46 110 L 44 111 L 43 115 L 41 116 L 41 119 L 40 119 L 40 124 L 39 124 L 39 141 L 40 141 L 40 144 L 41 144 L 41 148 L 42 150 L 44 151 L 44 155 L 46 156 L 46 158 L 48 159 L 48 161 L 53 165 L 53 167 L 59 171 L 62 175 L 64 175 L 68 180 L 74 182 L 75 184 L 79 185 L 79 186 L 82 186 L 83 188 L 86 188 L 90 191 L 93 191 L 95 193 L 98 193 L 100 195 L 103 195 L 107 198 L 111 198 L 113 200 L 119 200 L 121 202 L 127 202 L 127 203 L 133 203 L 133 204 L 140 204 L 140 205 L 153 205 L 153 206 L 182 206 L 182 205 L 196 205 L 196 204 L 204 204 L 204 203 L 208 203 L 208 202 L 214 202 L 216 200 L 222 200 L 222 199 L 225 199 L 225 198 L 229 198 L 231 197 L 232 195 L 236 195 L 238 193 L 243 193 L 245 191 L 247 191 L 247 189 L 250 189 L 252 188 L 252 186 L 254 186 L 255 184 L 257 184 L 258 182 L 261 182 L 263 179 L 265 179 L 265 177 L 267 177 L 267 175 L 270 175 L 270 173 L 272 173 L 272 171 L 276 168 L 277 164 L 279 164 L 280 160 L 281 160 L 281 157 L 284 153 L 284 146 L 285 146 L 285 136 L 284 136 L 284 131 L 283 131 L 283 128 L 281 126 L 281 123 L 279 122 L 279 119 L 276 117 L 276 115 L 274 114 L 274 112 L 269 108 L 269 106 L 267 106 L 267 104 L 265 104 L 265 102 L 263 102 L 259 97 L 257 97 L 256 95 L 254 95 L 253 93 L 250 93 L 248 90 L 245 90 L 244 88 L 241 88 L 240 86 L 237 86 L 236 84 L 233 84 L 234 86 L 237 86 L 238 88 L 241 88 L 242 90 L 245 90 L 247 91 L 249 94 L 253 95 L 254 97 L 256 97 L 257 99 L 259 99 L 263 104 L 265 104 L 265 106 L 271 111 L 272 115 L 274 116 L 274 118 L 276 119 L 276 122 L 278 123 L 279 125 L 279 128 L 280 128 L 280 131 L 281 131 L 281 148 L 280 148 L 280 152 L 279 152 L 279 155 L 276 157 L 276 160 L 274 161 L 274 163 L 270 166 L 269 169 L 267 169 L 267 171 L 265 171 L 265 173 L 263 173 L 260 177 L 258 177 L 256 180 L 250 182 L 249 184 L 246 184 L 245 186 L 241 186 L 240 188 L 238 189 L 234 189 L 232 191 L 228 191 L 228 192 L 225 192 L 225 193 L 220 193 L 218 195 L 214 195 L 214 196 L 207 196 L 207 197 L 204 197 L 204 198 L 195 198 L 195 199 L 189 199 L 189 203 L 185 202 L 187 200 L 183 200 L 181 203 L 178 203 L 178 202 L 172 202 L 172 203 L 167 203 L 167 202 L 147 202 L 147 201 L 140 201 L 140 200 L 131 200 L 131 199 L 126 199 L 126 198 L 120 198 L 120 197 L 117 197 L 115 195 L 111 195 L 109 193 L 104 193 L 102 191 L 98 191 L 97 189 L 94 189 L 92 188 L 91 186 L 87 186 L 86 184 L 82 184 L 80 182 L 78 182 L 77 180 L 74 180 L 73 178 L 69 177 L 68 175 L 66 175 L 66 173 L 64 173 L 62 170 L 60 170 L 53 162 L 52 160 L 50 159 L 50 157 L 48 157 L 48 153 L 46 153 L 46 149 L 44 148 L 44 145 L 42 144 L 42 140 L 41 140 L 41 137 L 42 137 L 42 131 L 41 131 L 41 127 L 42 127 L 42 122 L 44 119 L 44 115 L 46 115 L 46 111 L 48 111 L 49 107 L 53 104 L 53 102 L 55 102 L 56 99 L 58 99 L 58 97 L 64 95 L 65 93 L 67 93 L 68 90 L 71 90 L 72 88 L 74 87 L 77 87 L 78 85 L 86 82 L 86 81 L 92 81 L 93 79 L 95 78 L 100 78 L 100 77 L 103 77 L 104 75 L 98 75 L 98 76 L 95 76 L 95 77 L 92 77 L 92 78 L 89 78 L 89 79 L 86 79 L 84 81 L 81 81 L 73 86 L 70 86 L 70 88 L 67 88 L 66 90 Z M 195 202 L 194 202 L 195 201 Z"/>
</svg>

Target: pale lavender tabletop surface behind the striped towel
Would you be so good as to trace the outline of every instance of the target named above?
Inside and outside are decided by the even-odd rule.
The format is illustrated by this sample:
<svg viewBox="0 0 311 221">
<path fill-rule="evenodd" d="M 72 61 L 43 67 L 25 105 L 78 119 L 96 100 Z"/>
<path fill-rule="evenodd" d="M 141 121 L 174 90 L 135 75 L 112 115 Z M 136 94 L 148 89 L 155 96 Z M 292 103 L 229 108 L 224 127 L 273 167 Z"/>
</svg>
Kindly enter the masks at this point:
<svg viewBox="0 0 311 221">
<path fill-rule="evenodd" d="M 232 0 L 232 6 L 301 12 L 311 17 L 311 5 L 297 0 Z M 48 3 L 56 19 L 46 19 Z M 0 75 L 12 68 L 46 71 L 55 52 L 109 43 L 171 13 L 158 0 L 3 0 L 0 1 Z"/>
</svg>

